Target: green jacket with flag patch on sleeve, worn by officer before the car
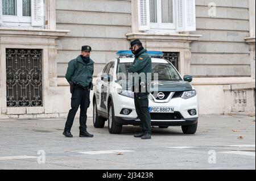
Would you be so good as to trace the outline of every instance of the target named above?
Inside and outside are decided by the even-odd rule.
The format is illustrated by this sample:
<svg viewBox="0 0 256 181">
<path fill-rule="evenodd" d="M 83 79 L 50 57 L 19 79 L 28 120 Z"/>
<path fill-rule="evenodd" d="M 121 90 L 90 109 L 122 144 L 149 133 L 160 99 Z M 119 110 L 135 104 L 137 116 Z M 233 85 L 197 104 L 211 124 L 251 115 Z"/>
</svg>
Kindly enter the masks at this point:
<svg viewBox="0 0 256 181">
<path fill-rule="evenodd" d="M 146 75 L 146 80 L 147 80 L 147 73 L 152 73 L 152 62 L 151 62 L 151 57 L 148 55 L 147 50 L 143 49 L 141 52 L 135 56 L 133 64 L 131 64 L 130 73 L 144 73 Z M 135 80 L 133 82 L 133 86 L 136 85 L 136 83 L 144 82 L 144 80 L 139 77 L 139 80 Z M 147 82 L 150 83 L 150 82 Z"/>
</svg>

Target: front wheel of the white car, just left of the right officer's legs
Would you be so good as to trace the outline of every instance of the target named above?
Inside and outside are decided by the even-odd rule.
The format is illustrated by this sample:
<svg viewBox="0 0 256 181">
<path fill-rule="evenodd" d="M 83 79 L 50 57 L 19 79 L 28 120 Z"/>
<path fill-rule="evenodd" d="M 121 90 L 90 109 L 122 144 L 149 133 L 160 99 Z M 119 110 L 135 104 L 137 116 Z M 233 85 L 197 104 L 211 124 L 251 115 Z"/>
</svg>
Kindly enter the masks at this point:
<svg viewBox="0 0 256 181">
<path fill-rule="evenodd" d="M 121 133 L 123 126 L 122 126 L 122 124 L 118 124 L 117 122 L 115 122 L 114 106 L 113 106 L 112 102 L 110 102 L 110 104 L 109 104 L 108 115 L 109 115 L 109 119 L 108 119 L 109 133 L 111 133 L 111 134 Z"/>
</svg>

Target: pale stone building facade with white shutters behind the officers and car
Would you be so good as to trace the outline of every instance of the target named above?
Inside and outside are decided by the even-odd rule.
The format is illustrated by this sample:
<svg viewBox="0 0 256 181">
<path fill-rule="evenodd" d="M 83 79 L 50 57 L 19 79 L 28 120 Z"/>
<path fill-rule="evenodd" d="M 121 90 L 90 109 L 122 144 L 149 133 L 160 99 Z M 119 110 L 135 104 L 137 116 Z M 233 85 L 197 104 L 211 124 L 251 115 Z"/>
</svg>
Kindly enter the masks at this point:
<svg viewBox="0 0 256 181">
<path fill-rule="evenodd" d="M 255 115 L 254 0 L 0 0 L 0 12 L 0 118 L 67 116 L 81 46 L 96 77 L 137 38 L 193 75 L 201 114 Z"/>
</svg>

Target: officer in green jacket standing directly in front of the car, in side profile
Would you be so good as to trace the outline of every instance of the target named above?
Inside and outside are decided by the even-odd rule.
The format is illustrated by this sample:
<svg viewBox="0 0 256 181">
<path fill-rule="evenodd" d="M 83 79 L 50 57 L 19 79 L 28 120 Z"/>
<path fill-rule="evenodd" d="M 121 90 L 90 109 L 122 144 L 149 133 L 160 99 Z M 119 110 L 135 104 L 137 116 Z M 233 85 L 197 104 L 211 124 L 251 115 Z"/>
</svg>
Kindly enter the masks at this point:
<svg viewBox="0 0 256 181">
<path fill-rule="evenodd" d="M 140 40 L 136 39 L 131 41 L 130 49 L 135 55 L 133 64 L 131 64 L 129 72 L 144 74 L 144 78 L 138 77 L 138 80 L 133 82 L 134 91 L 134 104 L 135 110 L 142 124 L 142 132 L 134 134 L 134 137 L 141 137 L 142 139 L 151 139 L 151 117 L 148 110 L 148 73 L 152 71 L 151 58 L 147 53 L 147 50 L 142 47 Z M 135 78 L 136 79 L 136 78 Z M 137 87 L 138 89 L 136 89 Z M 145 89 L 143 89 L 145 88 Z"/>
</svg>

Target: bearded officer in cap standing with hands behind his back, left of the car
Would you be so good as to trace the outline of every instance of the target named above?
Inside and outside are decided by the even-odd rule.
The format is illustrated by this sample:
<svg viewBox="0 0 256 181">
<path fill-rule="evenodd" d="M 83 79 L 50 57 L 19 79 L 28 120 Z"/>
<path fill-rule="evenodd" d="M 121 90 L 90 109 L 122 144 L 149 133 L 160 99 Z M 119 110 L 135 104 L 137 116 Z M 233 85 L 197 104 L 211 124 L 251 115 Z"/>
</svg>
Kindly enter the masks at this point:
<svg viewBox="0 0 256 181">
<path fill-rule="evenodd" d="M 93 137 L 86 131 L 87 108 L 90 105 L 90 90 L 92 89 L 92 79 L 94 62 L 90 59 L 92 48 L 82 46 L 81 54 L 77 58 L 68 63 L 68 70 L 65 78 L 71 85 L 71 110 L 68 112 L 67 122 L 63 135 L 65 137 L 73 137 L 71 127 L 80 106 L 80 137 Z"/>
</svg>

